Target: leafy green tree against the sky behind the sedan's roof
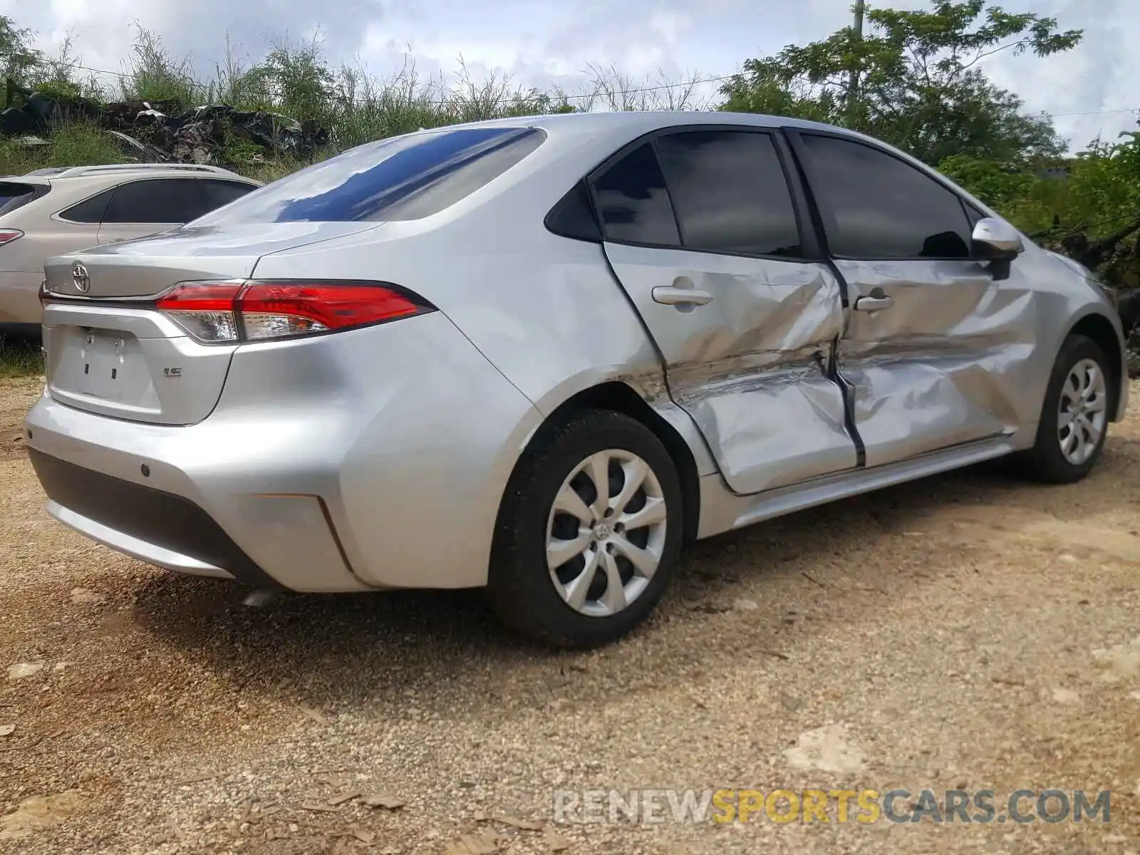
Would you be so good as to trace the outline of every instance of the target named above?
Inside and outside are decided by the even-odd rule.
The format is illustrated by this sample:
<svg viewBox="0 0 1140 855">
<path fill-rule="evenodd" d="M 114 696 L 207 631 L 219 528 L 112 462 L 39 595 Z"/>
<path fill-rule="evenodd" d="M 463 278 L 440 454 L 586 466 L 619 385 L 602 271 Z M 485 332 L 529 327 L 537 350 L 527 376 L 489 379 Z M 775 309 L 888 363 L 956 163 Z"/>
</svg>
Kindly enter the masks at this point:
<svg viewBox="0 0 1140 855">
<path fill-rule="evenodd" d="M 1021 99 L 991 83 L 978 64 L 1002 51 L 1070 50 L 1080 30 L 1059 32 L 1054 18 L 985 8 L 985 0 L 872 9 L 866 18 L 870 32 L 862 38 L 845 27 L 749 59 L 722 87 L 722 108 L 850 127 L 931 165 L 954 155 L 1012 163 L 1065 150 L 1052 121 L 1025 115 Z"/>
</svg>

